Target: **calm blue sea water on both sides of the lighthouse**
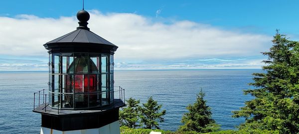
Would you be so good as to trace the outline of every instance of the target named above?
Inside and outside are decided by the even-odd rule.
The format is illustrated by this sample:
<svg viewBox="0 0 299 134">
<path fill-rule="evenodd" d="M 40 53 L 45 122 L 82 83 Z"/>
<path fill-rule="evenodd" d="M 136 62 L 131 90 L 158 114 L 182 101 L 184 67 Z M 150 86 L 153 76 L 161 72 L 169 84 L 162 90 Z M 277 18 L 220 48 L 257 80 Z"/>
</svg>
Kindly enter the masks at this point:
<svg viewBox="0 0 299 134">
<path fill-rule="evenodd" d="M 163 130 L 175 131 L 185 107 L 194 103 L 202 88 L 221 129 L 235 129 L 244 119 L 231 118 L 231 111 L 244 106 L 251 96 L 252 73 L 259 69 L 224 70 L 126 70 L 115 71 L 115 85 L 126 89 L 126 98 L 145 103 L 152 96 L 166 110 Z M 33 113 L 33 92 L 47 88 L 48 74 L 41 72 L 0 72 L 0 134 L 39 134 L 40 114 Z"/>
</svg>

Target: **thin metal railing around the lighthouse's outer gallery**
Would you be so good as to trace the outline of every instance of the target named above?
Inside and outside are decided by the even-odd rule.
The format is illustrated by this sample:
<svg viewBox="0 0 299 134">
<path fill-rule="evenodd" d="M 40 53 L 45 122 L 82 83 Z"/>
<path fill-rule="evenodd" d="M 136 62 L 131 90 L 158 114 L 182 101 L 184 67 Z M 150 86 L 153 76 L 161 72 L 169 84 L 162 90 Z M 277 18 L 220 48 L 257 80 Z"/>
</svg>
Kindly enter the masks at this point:
<svg viewBox="0 0 299 134">
<path fill-rule="evenodd" d="M 113 106 L 115 107 L 115 99 L 119 98 L 124 104 L 125 104 L 125 89 L 122 88 L 121 86 L 116 86 L 114 87 L 114 89 L 117 89 L 119 88 L 119 90 L 114 90 L 113 91 Z M 46 91 L 45 91 L 46 90 Z M 46 93 L 45 93 L 46 92 Z M 84 94 L 84 95 L 95 95 L 95 94 L 98 94 L 98 95 L 101 95 L 102 94 L 106 94 L 106 93 L 111 93 L 111 90 L 109 91 L 98 91 L 98 92 L 92 92 L 92 93 L 52 93 L 52 92 L 48 92 L 47 89 L 42 89 L 42 90 L 39 90 L 37 92 L 34 92 L 33 93 L 33 110 L 36 110 L 38 108 L 38 110 L 44 110 L 45 112 L 47 112 L 47 106 L 49 106 L 49 98 L 47 97 L 52 97 L 50 94 L 59 94 L 59 95 L 62 95 L 62 96 L 65 96 L 65 95 L 73 95 L 75 96 L 76 94 Z M 117 93 L 119 92 L 119 93 Z M 48 94 L 47 94 L 48 93 Z M 118 96 L 119 94 L 119 96 Z M 51 99 L 52 101 L 52 99 Z M 57 113 L 59 114 L 59 110 L 61 109 L 64 109 L 64 108 L 61 108 L 61 105 L 60 105 L 60 101 L 56 101 L 55 103 L 57 103 L 58 107 L 55 107 L 55 108 L 51 108 L 51 109 L 55 109 L 57 110 Z M 109 105 L 111 104 L 110 103 L 111 101 L 109 101 Z M 52 102 L 51 102 L 52 103 Z M 100 108 L 102 109 L 102 104 L 100 104 Z M 93 107 L 91 107 L 93 108 Z M 77 108 L 73 108 L 73 110 L 75 110 Z M 83 108 L 84 109 L 84 108 Z M 72 109 L 66 109 L 66 110 L 72 110 Z"/>
</svg>

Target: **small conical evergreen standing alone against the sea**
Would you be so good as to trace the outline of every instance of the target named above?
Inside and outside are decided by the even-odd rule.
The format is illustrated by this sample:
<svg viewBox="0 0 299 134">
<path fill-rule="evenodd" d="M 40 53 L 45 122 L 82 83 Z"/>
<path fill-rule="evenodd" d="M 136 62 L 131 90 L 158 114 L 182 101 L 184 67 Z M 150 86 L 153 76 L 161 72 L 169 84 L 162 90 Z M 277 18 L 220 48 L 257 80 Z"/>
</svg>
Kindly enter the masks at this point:
<svg viewBox="0 0 299 134">
<path fill-rule="evenodd" d="M 206 105 L 203 99 L 205 93 L 200 90 L 197 94 L 196 102 L 187 106 L 188 113 L 182 117 L 181 123 L 184 125 L 179 127 L 179 131 L 195 131 L 199 133 L 214 132 L 220 129 L 220 125 L 212 119 L 211 108 Z"/>
</svg>

